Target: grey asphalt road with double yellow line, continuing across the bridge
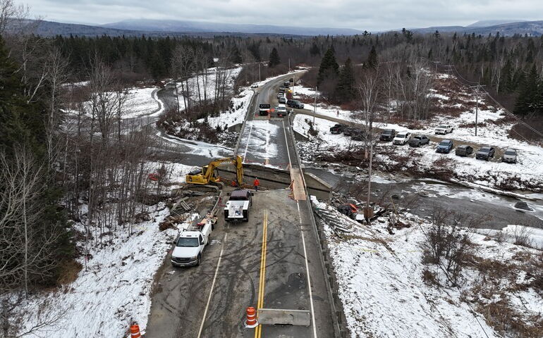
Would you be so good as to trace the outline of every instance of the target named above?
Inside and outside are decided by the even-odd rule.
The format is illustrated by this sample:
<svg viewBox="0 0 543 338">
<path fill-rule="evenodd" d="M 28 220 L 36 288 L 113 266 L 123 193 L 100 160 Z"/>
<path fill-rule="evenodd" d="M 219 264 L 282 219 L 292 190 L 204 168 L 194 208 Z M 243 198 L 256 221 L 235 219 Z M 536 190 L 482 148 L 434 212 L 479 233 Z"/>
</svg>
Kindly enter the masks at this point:
<svg viewBox="0 0 543 338">
<path fill-rule="evenodd" d="M 253 108 L 273 104 L 274 87 L 282 81 L 258 89 Z M 299 166 L 286 137 L 288 120 L 249 115 L 238 154 L 246 161 Z M 200 266 L 173 268 L 168 257 L 157 276 L 145 337 L 334 337 L 311 211 L 288 195 L 286 189 L 255 192 L 247 223 L 225 223 L 220 210 Z M 312 325 L 246 329 L 245 309 L 259 302 L 262 308 L 310 311 Z"/>
</svg>

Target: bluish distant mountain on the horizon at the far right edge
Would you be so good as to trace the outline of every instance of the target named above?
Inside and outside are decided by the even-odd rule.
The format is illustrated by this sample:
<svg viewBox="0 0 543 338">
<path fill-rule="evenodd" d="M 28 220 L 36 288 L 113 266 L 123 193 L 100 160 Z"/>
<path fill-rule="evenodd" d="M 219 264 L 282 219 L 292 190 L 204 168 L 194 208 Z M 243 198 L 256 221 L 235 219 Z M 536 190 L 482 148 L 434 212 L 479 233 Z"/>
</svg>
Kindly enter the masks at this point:
<svg viewBox="0 0 543 338">
<path fill-rule="evenodd" d="M 477 24 L 477 23 L 475 23 Z M 473 25 L 473 24 L 472 24 Z M 427 27 L 427 28 L 414 28 L 412 29 L 413 32 L 417 33 L 432 33 L 438 30 L 441 33 L 444 32 L 457 32 L 457 33 L 467 33 L 472 34 L 475 33 L 476 35 L 495 35 L 497 32 L 500 33 L 500 35 L 504 36 L 511 36 L 511 35 L 531 35 L 535 37 L 539 37 L 543 35 L 543 20 L 541 21 L 520 21 L 515 23 L 503 23 L 500 25 L 492 25 L 492 26 L 483 26 L 480 27 L 478 25 L 476 26 L 438 26 L 438 27 Z M 484 22 L 480 23 L 479 25 L 484 25 Z"/>
</svg>

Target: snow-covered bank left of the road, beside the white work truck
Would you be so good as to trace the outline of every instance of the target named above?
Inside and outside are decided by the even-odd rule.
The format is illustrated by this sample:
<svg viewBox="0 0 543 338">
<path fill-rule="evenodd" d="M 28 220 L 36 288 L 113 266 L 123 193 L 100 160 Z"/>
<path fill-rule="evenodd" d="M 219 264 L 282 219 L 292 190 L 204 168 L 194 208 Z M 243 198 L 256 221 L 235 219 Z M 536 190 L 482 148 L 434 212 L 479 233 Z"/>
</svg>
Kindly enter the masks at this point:
<svg viewBox="0 0 543 338">
<path fill-rule="evenodd" d="M 150 172 L 160 165 L 147 163 Z M 178 183 L 185 182 L 185 174 L 193 168 L 180 163 L 164 165 L 169 169 L 169 181 Z M 85 258 L 79 258 L 83 270 L 73 282 L 25 299 L 18 308 L 23 318 L 20 332 L 51 318 L 58 320 L 25 337 L 120 338 L 128 336 L 131 323 L 138 323 L 145 331 L 154 275 L 178 233 L 173 229 L 159 231 L 159 223 L 169 215 L 164 204 L 150 206 L 147 211 L 150 220 L 118 225 L 119 230 L 111 243 L 90 245 L 87 269 Z M 178 229 L 188 226 L 191 220 L 188 218 L 187 222 L 178 225 Z M 83 231 L 82 225 L 75 226 Z M 133 228 L 131 235 L 129 226 Z M 104 242 L 106 238 L 109 236 L 104 237 Z M 78 246 L 82 247 L 83 242 Z"/>
</svg>

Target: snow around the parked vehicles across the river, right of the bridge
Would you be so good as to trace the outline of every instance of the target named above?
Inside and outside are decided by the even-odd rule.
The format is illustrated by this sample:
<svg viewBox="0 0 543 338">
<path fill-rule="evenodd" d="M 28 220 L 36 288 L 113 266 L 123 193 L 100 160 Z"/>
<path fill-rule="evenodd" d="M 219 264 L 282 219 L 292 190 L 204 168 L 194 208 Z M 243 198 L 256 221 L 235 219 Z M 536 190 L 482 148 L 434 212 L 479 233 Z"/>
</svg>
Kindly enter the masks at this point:
<svg viewBox="0 0 543 338">
<path fill-rule="evenodd" d="M 315 94 L 315 91 L 310 88 L 303 88 L 300 89 L 300 93 L 312 96 Z M 443 94 L 432 93 L 430 95 L 439 96 L 440 99 L 448 99 L 448 96 Z M 466 102 L 469 103 L 471 100 L 470 98 Z M 309 104 L 305 104 L 305 108 L 311 111 L 313 109 Z M 336 111 L 339 111 L 339 117 Z M 340 118 L 348 122 L 362 123 L 362 120 L 355 114 L 350 111 L 343 111 L 336 106 L 318 104 L 317 114 L 331 118 Z M 496 147 L 496 156 L 494 159 L 491 161 L 478 161 L 475 159 L 475 155 L 460 157 L 456 156 L 454 151 L 451 151 L 451 154 L 437 154 L 435 152 L 437 143 L 435 142 L 430 142 L 429 145 L 414 150 L 408 146 L 393 146 L 393 153 L 399 156 L 409 156 L 410 151 L 414 151 L 414 154 L 417 155 L 415 161 L 406 164 L 406 169 L 410 165 L 416 165 L 421 169 L 432 168 L 434 161 L 441 158 L 449 158 L 454 164 L 453 171 L 460 180 L 469 180 L 490 187 L 506 184 L 517 189 L 532 189 L 530 187 L 537 187 L 543 184 L 543 165 L 541 165 L 543 163 L 543 148 L 508 137 L 508 130 L 513 125 L 512 123 L 492 123 L 492 121 L 503 118 L 504 114 L 504 111 L 495 109 L 492 106 L 486 106 L 480 110 L 478 120 L 480 123 L 484 123 L 484 125 L 480 125 L 478 128 L 477 137 L 474 136 L 475 127 L 467 125 L 475 121 L 475 111 L 471 108 L 465 108 L 465 111 L 458 114 L 457 117 L 437 115 L 424 129 L 409 129 L 394 123 L 375 123 L 374 125 L 381 129 L 395 129 L 396 132 L 408 131 L 413 135 L 426 134 L 432 136 L 434 134 L 434 127 L 437 127 L 441 123 L 446 123 L 455 126 L 455 130 L 451 134 L 439 136 L 444 139 L 453 140 L 455 147 L 460 144 L 470 144 L 474 147 L 475 151 L 483 145 Z M 343 134 L 330 134 L 329 128 L 336 123 L 325 120 L 324 118 L 315 118 L 313 129 L 317 130 L 318 134 L 316 138 L 312 137 L 310 135 L 310 125 L 312 125 L 313 120 L 310 115 L 298 114 L 294 118 L 293 127 L 296 132 L 312 139 L 312 142 L 318 142 L 319 149 L 329 148 L 334 151 L 341 151 L 352 149 L 353 146 L 362 144 L 362 142 L 352 141 L 350 137 L 345 137 Z M 384 143 L 379 144 L 379 146 L 384 145 Z M 391 146 L 390 143 L 388 145 Z M 510 147 L 518 150 L 518 163 L 501 163 L 501 154 L 503 154 L 505 149 Z M 377 148 L 377 151 L 379 151 L 379 148 Z M 377 158 L 380 158 L 382 161 L 390 161 L 387 156 L 377 155 Z M 512 178 L 514 182 L 511 182 Z"/>
</svg>

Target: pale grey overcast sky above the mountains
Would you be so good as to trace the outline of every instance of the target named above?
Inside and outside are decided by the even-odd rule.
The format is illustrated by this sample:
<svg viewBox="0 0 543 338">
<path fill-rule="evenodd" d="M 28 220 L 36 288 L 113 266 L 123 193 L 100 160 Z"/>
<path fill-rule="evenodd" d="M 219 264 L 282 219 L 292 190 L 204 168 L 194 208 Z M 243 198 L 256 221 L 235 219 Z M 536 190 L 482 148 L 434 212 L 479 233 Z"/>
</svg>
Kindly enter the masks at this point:
<svg viewBox="0 0 543 338">
<path fill-rule="evenodd" d="M 28 0 L 21 3 L 30 6 L 32 15 L 45 20 L 90 24 L 148 18 L 378 31 L 469 25 L 477 20 L 543 19 L 542 0 Z"/>
</svg>

